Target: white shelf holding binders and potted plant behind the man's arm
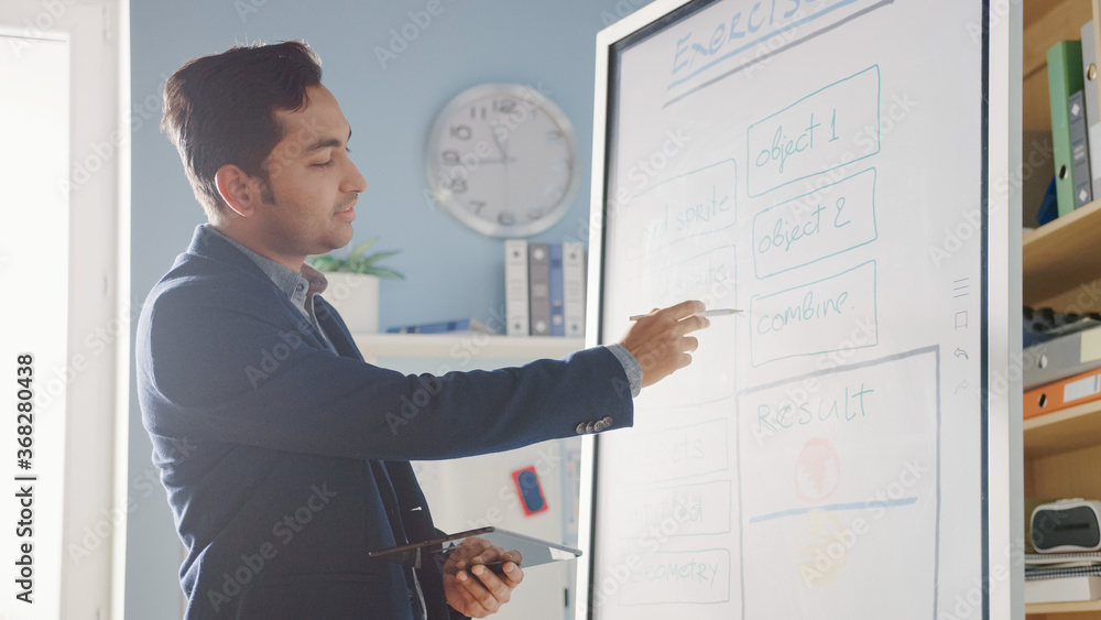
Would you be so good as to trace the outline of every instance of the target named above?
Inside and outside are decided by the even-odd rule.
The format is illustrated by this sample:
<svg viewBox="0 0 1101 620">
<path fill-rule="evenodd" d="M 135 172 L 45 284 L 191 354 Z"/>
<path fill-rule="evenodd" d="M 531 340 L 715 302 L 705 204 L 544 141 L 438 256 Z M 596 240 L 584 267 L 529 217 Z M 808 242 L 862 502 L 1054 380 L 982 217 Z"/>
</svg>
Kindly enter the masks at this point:
<svg viewBox="0 0 1101 620">
<path fill-rule="evenodd" d="M 453 334 L 353 334 L 368 358 L 538 359 L 560 358 L 585 348 L 584 338 Z"/>
</svg>

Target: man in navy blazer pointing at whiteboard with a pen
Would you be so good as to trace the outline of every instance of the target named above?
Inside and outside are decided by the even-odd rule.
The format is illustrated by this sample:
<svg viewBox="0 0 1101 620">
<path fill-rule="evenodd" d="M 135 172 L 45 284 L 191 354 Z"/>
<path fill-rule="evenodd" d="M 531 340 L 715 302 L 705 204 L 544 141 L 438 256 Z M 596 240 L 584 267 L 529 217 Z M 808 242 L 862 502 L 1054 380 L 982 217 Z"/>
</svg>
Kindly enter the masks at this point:
<svg viewBox="0 0 1101 620">
<path fill-rule="evenodd" d="M 690 362 L 702 304 L 519 369 L 373 367 L 304 264 L 351 241 L 366 188 L 313 52 L 187 63 L 165 85 L 163 128 L 209 220 L 150 293 L 137 342 L 143 423 L 187 547 L 186 618 L 495 612 L 523 579 L 501 550 L 472 548 L 445 574 L 367 557 L 437 534 L 408 460 L 631 425 L 632 395 Z M 501 576 L 479 566 L 497 559 Z"/>
</svg>

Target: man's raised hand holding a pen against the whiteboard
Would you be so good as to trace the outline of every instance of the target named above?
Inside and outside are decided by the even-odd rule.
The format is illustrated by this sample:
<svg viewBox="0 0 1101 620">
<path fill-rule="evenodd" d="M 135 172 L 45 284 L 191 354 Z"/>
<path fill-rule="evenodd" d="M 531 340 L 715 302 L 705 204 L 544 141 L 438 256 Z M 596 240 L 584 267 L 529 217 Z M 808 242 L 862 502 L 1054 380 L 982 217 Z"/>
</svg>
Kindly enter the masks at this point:
<svg viewBox="0 0 1101 620">
<path fill-rule="evenodd" d="M 654 309 L 634 322 L 620 340 L 642 366 L 642 387 L 654 383 L 691 363 L 691 351 L 699 347 L 694 336 L 686 336 L 711 324 L 702 316 L 704 302 L 682 302 L 665 309 Z"/>
</svg>

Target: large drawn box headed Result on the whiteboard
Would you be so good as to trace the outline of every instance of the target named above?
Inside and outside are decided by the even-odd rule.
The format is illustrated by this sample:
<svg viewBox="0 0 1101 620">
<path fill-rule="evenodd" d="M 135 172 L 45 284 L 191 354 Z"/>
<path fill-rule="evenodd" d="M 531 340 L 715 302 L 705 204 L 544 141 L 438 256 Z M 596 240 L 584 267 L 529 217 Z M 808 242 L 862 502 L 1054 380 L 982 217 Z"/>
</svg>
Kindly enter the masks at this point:
<svg viewBox="0 0 1101 620">
<path fill-rule="evenodd" d="M 745 390 L 735 428 L 744 618 L 934 618 L 939 347 Z"/>
</svg>

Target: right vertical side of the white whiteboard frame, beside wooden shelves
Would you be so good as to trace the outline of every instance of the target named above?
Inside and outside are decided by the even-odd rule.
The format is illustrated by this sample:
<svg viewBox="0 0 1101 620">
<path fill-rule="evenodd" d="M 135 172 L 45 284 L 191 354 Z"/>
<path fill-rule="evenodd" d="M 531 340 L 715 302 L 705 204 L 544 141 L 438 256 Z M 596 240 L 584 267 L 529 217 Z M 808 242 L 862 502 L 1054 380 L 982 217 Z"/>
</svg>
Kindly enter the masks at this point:
<svg viewBox="0 0 1101 620">
<path fill-rule="evenodd" d="M 1024 612 L 1024 401 L 1021 187 L 1021 2 L 986 0 L 986 562 L 983 618 L 1023 620 Z M 1020 176 L 1018 176 L 1020 178 Z M 995 269 L 1005 265 L 1005 269 Z M 991 519 L 1000 515 L 1000 519 Z M 999 579 L 1001 569 L 1005 578 Z M 1007 580 L 1009 588 L 999 587 Z"/>
</svg>

